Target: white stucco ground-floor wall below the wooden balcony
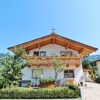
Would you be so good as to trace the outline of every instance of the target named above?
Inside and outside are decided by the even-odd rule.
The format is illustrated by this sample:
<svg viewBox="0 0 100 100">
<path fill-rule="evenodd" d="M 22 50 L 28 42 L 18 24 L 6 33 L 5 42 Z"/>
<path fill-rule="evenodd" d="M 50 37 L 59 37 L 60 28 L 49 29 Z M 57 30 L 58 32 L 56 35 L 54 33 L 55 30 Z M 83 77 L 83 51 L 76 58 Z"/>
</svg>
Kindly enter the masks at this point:
<svg viewBox="0 0 100 100">
<path fill-rule="evenodd" d="M 23 78 L 22 80 L 31 80 L 32 83 L 34 81 L 34 78 L 32 77 L 32 70 L 33 69 L 42 69 L 43 70 L 43 77 L 45 78 L 48 78 L 48 77 L 53 77 L 55 76 L 55 71 L 53 69 L 53 67 L 47 67 L 47 66 L 41 66 L 41 67 L 36 67 L 36 66 L 33 66 L 33 67 L 25 67 L 23 69 Z M 64 70 L 66 69 L 74 69 L 74 78 L 64 78 L 64 71 L 62 71 L 61 73 L 59 73 L 58 75 L 58 79 L 61 79 L 61 80 L 75 80 L 77 83 L 79 82 L 80 80 L 80 77 L 83 76 L 83 71 L 82 71 L 82 67 L 75 67 L 75 66 L 70 66 L 68 68 L 64 68 Z"/>
</svg>

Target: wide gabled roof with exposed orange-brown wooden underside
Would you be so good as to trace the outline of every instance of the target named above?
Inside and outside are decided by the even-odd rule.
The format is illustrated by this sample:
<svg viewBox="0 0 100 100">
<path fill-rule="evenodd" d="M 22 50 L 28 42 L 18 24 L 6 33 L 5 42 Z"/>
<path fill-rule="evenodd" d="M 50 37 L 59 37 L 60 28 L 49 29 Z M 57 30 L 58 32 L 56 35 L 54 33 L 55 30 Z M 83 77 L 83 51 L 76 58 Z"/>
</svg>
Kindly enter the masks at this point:
<svg viewBox="0 0 100 100">
<path fill-rule="evenodd" d="M 70 48 L 70 49 L 76 50 L 80 53 L 82 57 L 87 56 L 88 54 L 97 50 L 97 48 L 95 47 L 68 39 L 66 37 L 57 35 L 55 33 L 40 37 L 38 39 L 31 40 L 19 45 L 22 45 L 26 49 L 26 51 L 30 51 L 35 48 L 41 48 L 42 46 L 45 46 L 48 44 L 57 44 L 57 45 L 65 47 L 66 49 Z M 15 46 L 12 46 L 12 47 L 9 47 L 8 49 L 13 50 L 14 47 Z"/>
</svg>

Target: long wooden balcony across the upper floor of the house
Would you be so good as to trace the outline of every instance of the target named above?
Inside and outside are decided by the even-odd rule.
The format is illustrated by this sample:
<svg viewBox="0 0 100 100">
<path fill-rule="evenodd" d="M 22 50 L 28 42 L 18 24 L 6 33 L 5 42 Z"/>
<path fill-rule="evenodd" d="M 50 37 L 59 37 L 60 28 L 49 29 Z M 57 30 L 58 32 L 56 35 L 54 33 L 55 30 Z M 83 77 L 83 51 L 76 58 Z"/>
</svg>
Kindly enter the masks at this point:
<svg viewBox="0 0 100 100">
<path fill-rule="evenodd" d="M 41 56 L 25 56 L 24 57 L 25 60 L 28 63 L 31 63 L 33 66 L 37 65 L 37 66 L 51 66 L 53 63 L 53 58 L 52 56 L 45 56 L 45 57 L 41 57 Z M 81 57 L 59 57 L 59 59 L 61 59 L 61 63 L 66 65 L 66 66 L 76 66 L 79 67 L 81 64 Z"/>
</svg>

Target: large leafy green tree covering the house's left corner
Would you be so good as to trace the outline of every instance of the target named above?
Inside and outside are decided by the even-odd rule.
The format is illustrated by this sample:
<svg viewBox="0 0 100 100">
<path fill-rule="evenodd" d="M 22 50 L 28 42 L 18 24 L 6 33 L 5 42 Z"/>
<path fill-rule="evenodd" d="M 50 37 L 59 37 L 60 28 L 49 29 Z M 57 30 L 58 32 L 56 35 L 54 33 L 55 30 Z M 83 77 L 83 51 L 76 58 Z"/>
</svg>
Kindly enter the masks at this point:
<svg viewBox="0 0 100 100">
<path fill-rule="evenodd" d="M 22 78 L 22 71 L 27 63 L 23 59 L 25 50 L 23 47 L 15 47 L 14 55 L 7 54 L 1 61 L 1 76 L 7 81 L 9 88 L 13 84 L 19 84 Z"/>
</svg>

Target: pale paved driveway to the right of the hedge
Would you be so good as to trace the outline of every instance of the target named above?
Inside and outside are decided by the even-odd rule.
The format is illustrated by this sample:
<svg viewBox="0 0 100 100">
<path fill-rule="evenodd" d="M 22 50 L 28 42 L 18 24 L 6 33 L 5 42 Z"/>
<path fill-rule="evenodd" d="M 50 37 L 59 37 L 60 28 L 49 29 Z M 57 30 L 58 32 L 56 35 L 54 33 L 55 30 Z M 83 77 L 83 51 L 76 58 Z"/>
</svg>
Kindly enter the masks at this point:
<svg viewBox="0 0 100 100">
<path fill-rule="evenodd" d="M 100 100 L 100 84 L 87 82 L 84 87 L 85 100 Z"/>
</svg>

